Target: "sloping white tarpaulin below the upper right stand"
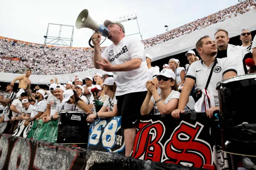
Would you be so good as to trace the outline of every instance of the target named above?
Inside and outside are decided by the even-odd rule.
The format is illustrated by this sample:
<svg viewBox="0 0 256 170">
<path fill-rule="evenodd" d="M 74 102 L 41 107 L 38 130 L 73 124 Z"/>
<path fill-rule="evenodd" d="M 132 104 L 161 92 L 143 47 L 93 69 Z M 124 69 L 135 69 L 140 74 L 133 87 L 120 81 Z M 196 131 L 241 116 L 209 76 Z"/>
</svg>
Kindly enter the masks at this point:
<svg viewBox="0 0 256 170">
<path fill-rule="evenodd" d="M 256 30 L 256 11 L 247 12 L 240 16 L 225 20 L 224 22 L 210 25 L 202 30 L 194 31 L 190 34 L 146 48 L 145 52 L 152 56 L 153 61 L 176 55 L 196 48 L 196 42 L 202 36 L 208 35 L 214 40 L 214 33 L 220 28 L 228 31 L 229 38 L 240 35 L 242 29 L 248 29 L 250 31 Z"/>
</svg>

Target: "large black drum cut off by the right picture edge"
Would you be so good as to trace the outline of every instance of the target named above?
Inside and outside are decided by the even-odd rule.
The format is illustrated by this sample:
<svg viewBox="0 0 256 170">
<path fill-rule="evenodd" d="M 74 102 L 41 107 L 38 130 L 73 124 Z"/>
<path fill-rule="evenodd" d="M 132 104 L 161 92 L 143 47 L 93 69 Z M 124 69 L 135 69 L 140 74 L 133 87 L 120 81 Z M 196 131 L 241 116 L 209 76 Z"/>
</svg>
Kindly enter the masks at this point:
<svg viewBox="0 0 256 170">
<path fill-rule="evenodd" d="M 220 101 L 222 150 L 256 155 L 256 74 L 223 80 L 216 89 Z"/>
</svg>

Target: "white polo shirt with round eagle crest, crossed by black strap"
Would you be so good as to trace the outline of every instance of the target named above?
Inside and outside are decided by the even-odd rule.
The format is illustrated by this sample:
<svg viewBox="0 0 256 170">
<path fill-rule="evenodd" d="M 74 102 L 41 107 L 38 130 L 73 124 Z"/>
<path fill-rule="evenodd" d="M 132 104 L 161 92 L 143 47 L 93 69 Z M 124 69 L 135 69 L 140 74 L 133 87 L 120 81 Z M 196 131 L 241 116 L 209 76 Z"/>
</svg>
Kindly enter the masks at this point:
<svg viewBox="0 0 256 170">
<path fill-rule="evenodd" d="M 219 106 L 219 98 L 218 98 L 218 91 L 216 90 L 216 84 L 223 80 L 223 75 L 227 73 L 228 71 L 236 71 L 236 64 L 231 61 L 228 57 L 225 58 L 215 58 L 215 61 L 217 60 L 217 63 L 213 69 L 212 77 L 210 79 L 210 83 L 208 85 L 207 90 L 212 93 L 214 96 L 215 106 Z M 212 66 L 214 65 L 214 62 L 207 67 L 202 60 L 195 61 L 190 65 L 190 68 L 188 69 L 188 73 L 186 75 L 187 78 L 194 79 L 196 81 L 195 83 L 195 90 L 201 91 L 205 88 L 208 77 L 210 75 Z"/>
</svg>

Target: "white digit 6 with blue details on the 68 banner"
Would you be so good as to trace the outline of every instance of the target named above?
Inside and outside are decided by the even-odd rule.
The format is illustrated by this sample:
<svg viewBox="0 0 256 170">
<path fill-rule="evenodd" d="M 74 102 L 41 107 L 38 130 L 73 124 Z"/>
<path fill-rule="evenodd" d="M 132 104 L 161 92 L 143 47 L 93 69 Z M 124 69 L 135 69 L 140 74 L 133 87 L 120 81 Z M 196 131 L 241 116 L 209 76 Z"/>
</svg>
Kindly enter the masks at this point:
<svg viewBox="0 0 256 170">
<path fill-rule="evenodd" d="M 106 120 L 102 120 L 102 121 L 98 121 L 98 123 L 94 124 L 94 126 L 92 126 L 90 128 L 91 131 L 91 135 L 88 141 L 88 144 L 90 145 L 97 145 L 100 142 L 100 134 L 101 134 L 101 129 L 104 128 L 107 124 Z"/>
</svg>

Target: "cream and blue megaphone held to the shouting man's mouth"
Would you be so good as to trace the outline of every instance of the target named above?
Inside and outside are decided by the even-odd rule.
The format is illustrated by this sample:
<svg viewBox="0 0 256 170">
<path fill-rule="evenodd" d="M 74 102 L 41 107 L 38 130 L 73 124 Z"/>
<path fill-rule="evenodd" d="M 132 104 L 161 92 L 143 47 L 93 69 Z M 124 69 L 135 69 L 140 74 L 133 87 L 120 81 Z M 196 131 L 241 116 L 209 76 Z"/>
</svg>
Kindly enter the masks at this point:
<svg viewBox="0 0 256 170">
<path fill-rule="evenodd" d="M 102 36 L 108 36 L 108 28 L 95 22 L 89 15 L 87 9 L 82 10 L 76 19 L 76 28 L 90 28 L 95 32 L 102 34 Z"/>
</svg>

